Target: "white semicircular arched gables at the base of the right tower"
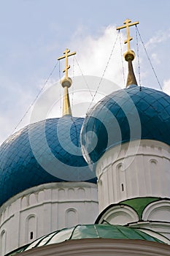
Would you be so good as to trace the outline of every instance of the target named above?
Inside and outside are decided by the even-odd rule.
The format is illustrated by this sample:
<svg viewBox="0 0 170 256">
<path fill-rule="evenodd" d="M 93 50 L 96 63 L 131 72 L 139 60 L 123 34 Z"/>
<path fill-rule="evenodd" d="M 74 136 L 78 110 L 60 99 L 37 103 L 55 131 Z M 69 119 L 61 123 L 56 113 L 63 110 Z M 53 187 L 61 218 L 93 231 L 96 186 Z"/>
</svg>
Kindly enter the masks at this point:
<svg viewBox="0 0 170 256">
<path fill-rule="evenodd" d="M 103 222 L 140 228 L 143 232 L 170 244 L 170 200 L 158 200 L 150 203 L 144 208 L 141 219 L 136 211 L 129 206 L 121 204 L 110 206 L 101 214 L 98 221 L 99 224 Z M 160 237 L 158 233 L 161 235 Z"/>
</svg>

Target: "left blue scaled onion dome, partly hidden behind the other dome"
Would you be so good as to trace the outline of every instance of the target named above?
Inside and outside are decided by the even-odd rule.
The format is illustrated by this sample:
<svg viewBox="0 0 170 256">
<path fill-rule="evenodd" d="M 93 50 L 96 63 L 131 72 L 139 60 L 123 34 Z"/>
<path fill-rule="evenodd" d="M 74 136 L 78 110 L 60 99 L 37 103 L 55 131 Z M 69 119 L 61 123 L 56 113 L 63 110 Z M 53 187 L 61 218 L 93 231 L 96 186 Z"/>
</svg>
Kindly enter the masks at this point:
<svg viewBox="0 0 170 256">
<path fill-rule="evenodd" d="M 25 189 L 59 181 L 96 183 L 82 157 L 84 118 L 63 116 L 30 124 L 0 147 L 0 206 Z"/>
</svg>

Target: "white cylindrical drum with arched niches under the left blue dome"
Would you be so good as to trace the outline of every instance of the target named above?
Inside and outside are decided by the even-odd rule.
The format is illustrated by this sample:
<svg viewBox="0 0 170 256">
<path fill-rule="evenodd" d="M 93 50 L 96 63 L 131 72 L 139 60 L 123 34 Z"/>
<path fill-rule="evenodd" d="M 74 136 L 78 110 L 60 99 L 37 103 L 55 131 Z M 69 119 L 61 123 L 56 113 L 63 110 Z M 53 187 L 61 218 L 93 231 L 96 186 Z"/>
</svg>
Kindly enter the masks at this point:
<svg viewBox="0 0 170 256">
<path fill-rule="evenodd" d="M 42 184 L 10 198 L 0 208 L 0 255 L 63 227 L 91 224 L 98 215 L 96 184 Z"/>
</svg>

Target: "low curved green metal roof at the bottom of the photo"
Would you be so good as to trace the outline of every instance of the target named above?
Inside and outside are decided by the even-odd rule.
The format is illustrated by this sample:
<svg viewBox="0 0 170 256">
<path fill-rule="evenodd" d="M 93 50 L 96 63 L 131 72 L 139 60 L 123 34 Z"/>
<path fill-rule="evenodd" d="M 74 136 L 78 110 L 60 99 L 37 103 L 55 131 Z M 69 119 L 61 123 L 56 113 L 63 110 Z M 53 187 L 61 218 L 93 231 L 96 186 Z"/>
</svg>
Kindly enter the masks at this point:
<svg viewBox="0 0 170 256">
<path fill-rule="evenodd" d="M 158 234 L 158 233 L 157 233 Z M 63 228 L 53 233 L 38 238 L 31 244 L 25 245 L 20 249 L 10 252 L 8 256 L 18 254 L 20 252 L 28 251 L 41 246 L 47 246 L 50 244 L 60 244 L 64 241 L 80 240 L 80 239 L 128 239 L 128 240 L 143 240 L 150 242 L 157 242 L 163 244 L 160 239 L 150 236 L 141 230 L 137 230 L 134 227 L 123 227 L 120 225 L 77 225 L 76 227 Z"/>
</svg>

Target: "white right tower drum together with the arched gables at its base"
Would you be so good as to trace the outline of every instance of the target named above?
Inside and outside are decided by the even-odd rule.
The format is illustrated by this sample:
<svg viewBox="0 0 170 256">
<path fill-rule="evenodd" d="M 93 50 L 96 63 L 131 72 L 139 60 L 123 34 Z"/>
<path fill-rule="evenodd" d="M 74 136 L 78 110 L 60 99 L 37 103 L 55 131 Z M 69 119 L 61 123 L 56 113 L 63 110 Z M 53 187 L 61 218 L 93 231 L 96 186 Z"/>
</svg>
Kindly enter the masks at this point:
<svg viewBox="0 0 170 256">
<path fill-rule="evenodd" d="M 98 161 L 96 176 L 101 214 L 99 223 L 107 221 L 113 225 L 153 230 L 170 239 L 168 145 L 155 140 L 141 140 L 111 148 Z M 133 208 L 117 204 L 136 197 L 160 198 L 144 208 L 142 221 Z"/>
</svg>

